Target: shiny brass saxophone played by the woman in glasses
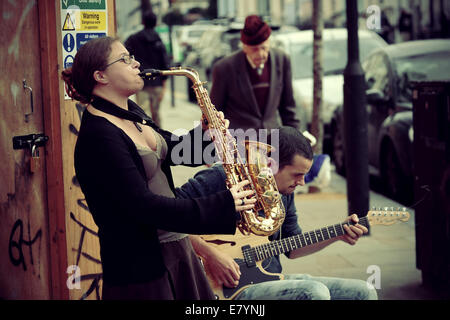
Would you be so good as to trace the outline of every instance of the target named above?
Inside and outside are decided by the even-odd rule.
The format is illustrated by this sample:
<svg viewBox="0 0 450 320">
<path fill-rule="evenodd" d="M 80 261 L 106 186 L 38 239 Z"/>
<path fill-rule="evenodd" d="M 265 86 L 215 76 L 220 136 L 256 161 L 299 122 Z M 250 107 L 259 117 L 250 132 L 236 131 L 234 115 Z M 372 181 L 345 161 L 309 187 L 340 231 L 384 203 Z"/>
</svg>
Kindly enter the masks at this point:
<svg viewBox="0 0 450 320">
<path fill-rule="evenodd" d="M 227 187 L 231 188 L 243 180 L 248 180 L 250 184 L 244 189 L 253 190 L 255 193 L 257 200 L 255 207 L 239 212 L 241 220 L 237 223 L 237 228 L 244 235 L 253 233 L 269 236 L 275 233 L 283 224 L 286 213 L 273 172 L 269 167 L 268 153 L 273 147 L 258 141 L 245 141 L 246 161 L 244 161 L 238 151 L 236 140 L 218 117 L 217 109 L 211 103 L 196 70 L 181 67 L 169 70 L 146 69 L 140 76 L 147 79 L 157 76 L 185 76 L 192 81 L 198 105 L 207 120 L 216 153 L 225 170 Z"/>
</svg>

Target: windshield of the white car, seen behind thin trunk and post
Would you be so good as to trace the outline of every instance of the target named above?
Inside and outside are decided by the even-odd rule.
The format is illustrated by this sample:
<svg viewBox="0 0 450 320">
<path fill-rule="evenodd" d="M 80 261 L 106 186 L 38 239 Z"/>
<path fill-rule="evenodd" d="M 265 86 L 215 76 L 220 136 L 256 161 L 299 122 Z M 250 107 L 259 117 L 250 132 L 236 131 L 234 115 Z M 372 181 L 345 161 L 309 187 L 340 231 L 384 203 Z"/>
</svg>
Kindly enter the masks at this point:
<svg viewBox="0 0 450 320">
<path fill-rule="evenodd" d="M 360 38 L 360 59 L 364 60 L 381 43 L 372 38 Z M 294 79 L 312 78 L 313 43 L 294 43 L 289 48 Z M 323 74 L 342 74 L 347 65 L 347 39 L 324 41 Z"/>
</svg>

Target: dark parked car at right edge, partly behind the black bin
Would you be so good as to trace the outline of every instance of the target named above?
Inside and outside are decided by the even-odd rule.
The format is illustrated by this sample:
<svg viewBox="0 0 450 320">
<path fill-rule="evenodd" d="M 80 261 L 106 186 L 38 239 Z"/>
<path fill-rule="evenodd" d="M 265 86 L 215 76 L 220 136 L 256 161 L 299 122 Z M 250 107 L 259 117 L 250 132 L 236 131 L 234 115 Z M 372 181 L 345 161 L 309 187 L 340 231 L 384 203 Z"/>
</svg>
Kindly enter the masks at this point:
<svg viewBox="0 0 450 320">
<path fill-rule="evenodd" d="M 411 201 L 413 195 L 414 82 L 450 80 L 449 57 L 450 40 L 421 40 L 392 44 L 363 61 L 370 172 L 394 199 Z M 343 121 L 341 105 L 331 128 L 334 164 L 345 174 Z"/>
</svg>

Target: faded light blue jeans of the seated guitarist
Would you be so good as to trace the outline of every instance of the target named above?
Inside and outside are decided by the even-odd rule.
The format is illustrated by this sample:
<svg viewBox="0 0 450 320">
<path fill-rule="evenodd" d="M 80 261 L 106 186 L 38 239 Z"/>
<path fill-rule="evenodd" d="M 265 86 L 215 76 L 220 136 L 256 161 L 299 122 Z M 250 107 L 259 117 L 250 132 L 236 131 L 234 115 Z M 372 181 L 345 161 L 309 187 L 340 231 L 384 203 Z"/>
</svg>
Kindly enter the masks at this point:
<svg viewBox="0 0 450 320">
<path fill-rule="evenodd" d="M 357 279 L 288 274 L 284 280 L 267 281 L 242 291 L 237 300 L 377 300 L 375 288 Z"/>
</svg>

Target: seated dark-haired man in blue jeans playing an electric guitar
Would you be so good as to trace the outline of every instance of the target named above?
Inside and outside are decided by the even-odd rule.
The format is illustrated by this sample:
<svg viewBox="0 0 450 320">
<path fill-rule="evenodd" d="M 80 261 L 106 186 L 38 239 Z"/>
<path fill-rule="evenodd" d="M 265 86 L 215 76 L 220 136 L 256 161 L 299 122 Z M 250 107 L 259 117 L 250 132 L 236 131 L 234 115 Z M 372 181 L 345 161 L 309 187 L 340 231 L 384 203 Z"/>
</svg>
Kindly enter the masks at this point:
<svg viewBox="0 0 450 320">
<path fill-rule="evenodd" d="M 294 190 L 297 185 L 305 184 L 305 175 L 313 163 L 313 152 L 309 141 L 294 128 L 282 127 L 279 129 L 278 147 L 279 161 L 277 164 L 279 168 L 274 170 L 274 177 L 279 191 L 283 194 L 282 201 L 286 209 L 286 218 L 281 229 L 269 237 L 270 241 L 302 234 L 298 225 Z M 178 188 L 177 193 L 180 197 L 195 198 L 225 188 L 223 169 L 221 165 L 214 165 L 197 173 L 194 179 Z M 364 233 L 368 232 L 368 229 L 358 223 L 358 217 L 355 214 L 350 216 L 347 222 L 351 223 L 341 225 L 341 233 L 329 234 L 329 237 L 325 237 L 325 239 L 319 236 L 318 240 L 313 234 L 316 241 L 307 237 L 305 246 L 284 252 L 290 259 L 295 259 L 317 252 L 337 240 L 354 245 Z M 282 275 L 282 266 L 277 254 L 269 254 L 272 257 L 262 261 L 259 265 L 262 270 L 253 268 L 258 273 L 254 275 L 255 279 L 249 280 L 247 277 L 252 277 L 252 275 L 244 275 L 244 272 L 253 272 L 252 268 L 240 264 L 239 261 L 220 249 L 221 244 L 232 241 L 205 240 L 205 237 L 197 235 L 191 235 L 190 238 L 196 253 L 203 261 L 213 290 L 216 292 L 222 291 L 217 289 L 223 289 L 223 296 L 221 292 L 217 295 L 218 298 L 243 300 L 376 300 L 378 298 L 376 290 L 369 289 L 363 280 L 313 277 L 308 274 Z M 243 284 L 244 281 L 247 283 Z M 231 288 L 228 294 L 226 294 L 227 288 Z"/>
</svg>

